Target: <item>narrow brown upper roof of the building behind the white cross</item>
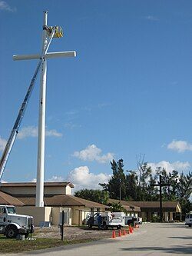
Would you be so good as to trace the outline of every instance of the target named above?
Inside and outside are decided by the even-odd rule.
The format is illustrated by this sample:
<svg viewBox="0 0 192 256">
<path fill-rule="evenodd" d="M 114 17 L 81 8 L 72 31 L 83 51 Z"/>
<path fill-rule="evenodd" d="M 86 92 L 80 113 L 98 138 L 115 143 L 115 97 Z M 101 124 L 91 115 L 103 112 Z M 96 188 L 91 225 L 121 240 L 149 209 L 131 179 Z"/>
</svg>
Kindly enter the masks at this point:
<svg viewBox="0 0 192 256">
<path fill-rule="evenodd" d="M 44 182 L 45 187 L 65 187 L 69 185 L 71 188 L 74 188 L 74 185 L 71 182 Z M 15 183 L 2 183 L 1 187 L 35 187 L 36 182 L 15 182 Z"/>
</svg>

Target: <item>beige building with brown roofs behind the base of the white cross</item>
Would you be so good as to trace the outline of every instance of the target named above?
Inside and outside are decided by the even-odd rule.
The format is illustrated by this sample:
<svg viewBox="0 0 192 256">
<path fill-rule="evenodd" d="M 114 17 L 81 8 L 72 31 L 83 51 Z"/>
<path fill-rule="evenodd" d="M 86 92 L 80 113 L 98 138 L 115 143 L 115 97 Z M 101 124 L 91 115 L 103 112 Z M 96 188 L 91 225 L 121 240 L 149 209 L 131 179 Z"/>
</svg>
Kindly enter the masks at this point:
<svg viewBox="0 0 192 256">
<path fill-rule="evenodd" d="M 18 206 L 18 214 L 28 214 L 34 217 L 35 226 L 45 224 L 59 224 L 61 212 L 65 212 L 65 223 L 73 225 L 84 224 L 88 214 L 105 211 L 104 204 L 74 197 L 71 195 L 71 182 L 45 182 L 45 207 L 35 207 L 36 183 L 3 183 L 1 191 L 22 201 L 25 205 Z"/>
</svg>

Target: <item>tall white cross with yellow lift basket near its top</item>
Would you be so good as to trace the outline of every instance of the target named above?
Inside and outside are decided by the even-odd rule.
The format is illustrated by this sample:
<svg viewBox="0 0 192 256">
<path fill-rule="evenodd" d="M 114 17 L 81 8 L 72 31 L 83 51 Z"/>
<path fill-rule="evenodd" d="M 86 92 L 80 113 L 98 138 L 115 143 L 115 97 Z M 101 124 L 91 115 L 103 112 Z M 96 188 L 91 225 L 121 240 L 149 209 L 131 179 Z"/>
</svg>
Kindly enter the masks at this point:
<svg viewBox="0 0 192 256">
<path fill-rule="evenodd" d="M 39 99 L 39 118 L 38 118 L 38 166 L 36 182 L 36 207 L 44 206 L 44 168 L 45 168 L 45 107 L 46 107 L 46 77 L 47 77 L 47 58 L 55 57 L 75 57 L 76 52 L 48 52 L 53 37 L 61 37 L 60 27 L 48 27 L 48 12 L 44 12 L 42 33 L 42 52 L 41 55 L 14 55 L 15 61 L 41 59 L 41 81 Z"/>
</svg>

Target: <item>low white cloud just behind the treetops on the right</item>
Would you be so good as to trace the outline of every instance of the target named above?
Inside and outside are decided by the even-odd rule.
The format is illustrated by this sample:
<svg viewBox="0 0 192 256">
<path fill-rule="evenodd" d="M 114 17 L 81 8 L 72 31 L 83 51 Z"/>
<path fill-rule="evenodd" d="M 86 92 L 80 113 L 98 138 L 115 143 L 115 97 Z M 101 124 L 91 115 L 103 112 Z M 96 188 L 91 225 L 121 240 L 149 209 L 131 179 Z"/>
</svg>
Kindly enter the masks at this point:
<svg viewBox="0 0 192 256">
<path fill-rule="evenodd" d="M 173 170 L 186 171 L 190 168 L 190 163 L 188 161 L 174 161 L 173 163 L 170 163 L 169 161 L 159 161 L 158 163 L 147 163 L 147 165 L 151 166 L 153 171 L 155 171 L 156 168 L 161 167 L 166 169 L 167 172 L 171 172 Z"/>
</svg>

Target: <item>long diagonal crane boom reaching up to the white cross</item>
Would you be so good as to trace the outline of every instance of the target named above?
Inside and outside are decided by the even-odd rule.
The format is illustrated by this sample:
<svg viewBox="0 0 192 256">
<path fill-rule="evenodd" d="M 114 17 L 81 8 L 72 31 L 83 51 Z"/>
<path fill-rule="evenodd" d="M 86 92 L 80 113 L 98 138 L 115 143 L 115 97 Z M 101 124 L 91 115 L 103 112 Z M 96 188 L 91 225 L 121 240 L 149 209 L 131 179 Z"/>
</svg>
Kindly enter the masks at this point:
<svg viewBox="0 0 192 256">
<path fill-rule="evenodd" d="M 49 45 L 51 44 L 51 40 L 54 37 L 54 35 L 55 35 L 55 28 L 53 28 L 51 30 L 51 35 L 50 35 L 50 38 L 48 40 L 48 45 L 44 49 L 44 51 L 43 51 L 43 53 L 41 55 L 41 58 L 40 58 L 40 60 L 38 62 L 38 66 L 37 66 L 37 68 L 35 70 L 35 73 L 34 73 L 32 79 L 31 79 L 31 83 L 30 83 L 30 85 L 28 87 L 28 91 L 27 91 L 27 93 L 25 95 L 24 101 L 22 102 L 22 106 L 21 106 L 20 110 L 18 111 L 18 116 L 16 118 L 15 125 L 12 128 L 11 135 L 9 136 L 7 144 L 5 146 L 5 149 L 4 149 L 3 153 L 2 153 L 2 158 L 0 159 L 0 183 L 2 181 L 2 175 L 3 175 L 4 171 L 5 171 L 5 166 L 6 166 L 7 161 L 8 161 L 8 156 L 10 155 L 10 153 L 12 151 L 12 146 L 13 146 L 13 144 L 15 142 L 15 138 L 17 137 L 17 134 L 18 134 L 18 129 L 19 129 L 20 125 L 21 125 L 22 118 L 23 118 L 23 116 L 25 114 L 25 110 L 27 108 L 28 100 L 29 100 L 29 98 L 31 96 L 32 89 L 34 88 L 35 81 L 36 81 L 36 78 L 38 76 L 38 71 L 39 71 L 39 69 L 41 67 L 41 63 L 43 62 L 43 60 L 45 58 L 45 55 L 48 52 Z"/>
</svg>

